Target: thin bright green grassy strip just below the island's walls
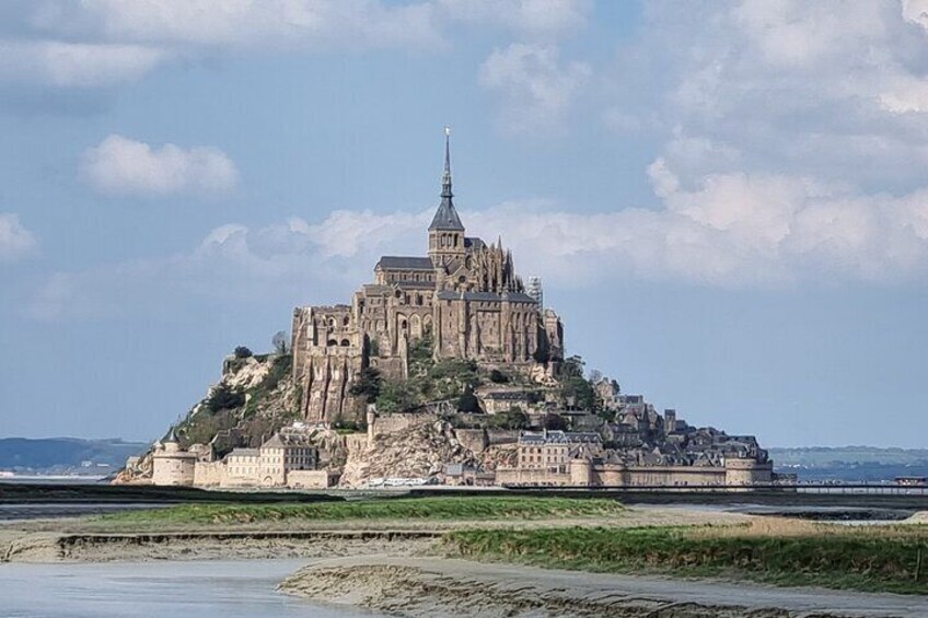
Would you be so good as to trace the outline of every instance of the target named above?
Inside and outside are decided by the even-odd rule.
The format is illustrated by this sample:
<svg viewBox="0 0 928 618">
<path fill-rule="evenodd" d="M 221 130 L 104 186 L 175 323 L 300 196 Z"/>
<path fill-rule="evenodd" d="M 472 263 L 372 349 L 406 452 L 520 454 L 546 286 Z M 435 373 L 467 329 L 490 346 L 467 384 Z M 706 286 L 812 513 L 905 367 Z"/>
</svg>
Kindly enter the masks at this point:
<svg viewBox="0 0 928 618">
<path fill-rule="evenodd" d="M 536 520 L 601 517 L 623 512 L 613 500 L 523 497 L 374 499 L 315 504 L 182 504 L 104 515 L 119 524 L 252 524 L 339 520 Z"/>
</svg>

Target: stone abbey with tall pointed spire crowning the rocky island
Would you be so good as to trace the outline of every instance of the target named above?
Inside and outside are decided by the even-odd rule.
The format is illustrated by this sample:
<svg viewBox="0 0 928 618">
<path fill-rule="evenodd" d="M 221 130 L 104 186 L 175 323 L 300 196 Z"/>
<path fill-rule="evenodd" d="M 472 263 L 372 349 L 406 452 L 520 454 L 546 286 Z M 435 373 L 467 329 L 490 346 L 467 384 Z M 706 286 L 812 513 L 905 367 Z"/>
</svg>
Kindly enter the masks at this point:
<svg viewBox="0 0 928 618">
<path fill-rule="evenodd" d="M 303 418 L 332 421 L 357 413 L 348 394 L 358 373 L 373 366 L 406 377 L 409 345 L 433 343 L 436 360 L 473 359 L 529 373 L 564 358 L 560 318 L 526 293 L 502 241 L 467 236 L 454 208 L 451 152 L 444 143 L 441 202 L 428 228 L 427 256 L 383 256 L 374 281 L 351 304 L 293 312 L 293 377 Z"/>
</svg>

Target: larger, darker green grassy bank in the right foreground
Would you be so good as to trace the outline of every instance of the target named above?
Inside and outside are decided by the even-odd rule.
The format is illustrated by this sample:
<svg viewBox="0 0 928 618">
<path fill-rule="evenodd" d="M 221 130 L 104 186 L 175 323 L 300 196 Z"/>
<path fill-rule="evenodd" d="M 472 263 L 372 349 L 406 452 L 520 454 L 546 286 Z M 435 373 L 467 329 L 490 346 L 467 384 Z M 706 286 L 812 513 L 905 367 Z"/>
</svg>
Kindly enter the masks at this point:
<svg viewBox="0 0 928 618">
<path fill-rule="evenodd" d="M 462 530 L 444 545 L 451 556 L 538 567 L 928 594 L 928 526 Z"/>
</svg>

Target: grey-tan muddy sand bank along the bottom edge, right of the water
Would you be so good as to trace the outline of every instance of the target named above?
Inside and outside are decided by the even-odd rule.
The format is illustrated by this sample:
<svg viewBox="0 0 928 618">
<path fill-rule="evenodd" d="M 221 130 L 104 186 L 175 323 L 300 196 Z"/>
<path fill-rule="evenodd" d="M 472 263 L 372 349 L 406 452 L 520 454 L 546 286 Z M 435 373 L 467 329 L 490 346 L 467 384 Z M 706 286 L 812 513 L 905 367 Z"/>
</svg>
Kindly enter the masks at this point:
<svg viewBox="0 0 928 618">
<path fill-rule="evenodd" d="M 928 599 L 750 583 L 607 575 L 408 557 L 324 560 L 285 592 L 395 616 L 786 618 L 928 616 Z"/>
</svg>

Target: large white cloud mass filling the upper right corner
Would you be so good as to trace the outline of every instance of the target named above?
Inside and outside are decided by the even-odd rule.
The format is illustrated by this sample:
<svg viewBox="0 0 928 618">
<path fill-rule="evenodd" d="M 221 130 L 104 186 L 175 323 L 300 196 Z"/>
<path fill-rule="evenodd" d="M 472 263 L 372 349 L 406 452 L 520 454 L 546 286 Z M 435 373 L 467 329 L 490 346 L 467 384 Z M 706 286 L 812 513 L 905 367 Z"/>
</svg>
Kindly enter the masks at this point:
<svg viewBox="0 0 928 618">
<path fill-rule="evenodd" d="M 727 172 L 839 180 L 848 170 L 870 186 L 921 183 L 928 32 L 900 3 L 681 7 L 648 4 L 648 28 L 608 78 L 605 117 L 619 133 L 664 139 L 661 155 L 684 185 Z"/>
</svg>

